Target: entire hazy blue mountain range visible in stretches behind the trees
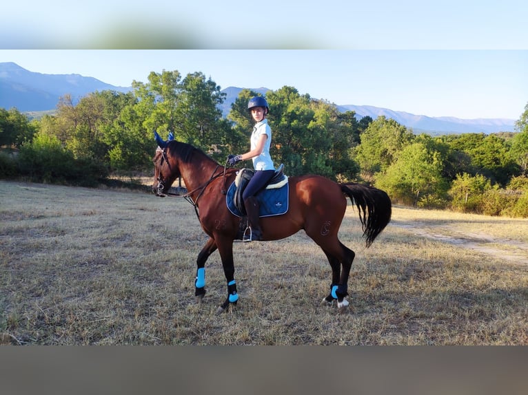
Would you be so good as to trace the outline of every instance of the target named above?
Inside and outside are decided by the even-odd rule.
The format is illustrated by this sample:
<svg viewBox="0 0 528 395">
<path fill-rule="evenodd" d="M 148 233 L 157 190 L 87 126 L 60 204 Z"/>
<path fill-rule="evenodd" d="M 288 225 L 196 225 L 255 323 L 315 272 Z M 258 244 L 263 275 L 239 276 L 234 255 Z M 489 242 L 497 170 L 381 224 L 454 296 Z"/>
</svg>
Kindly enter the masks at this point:
<svg viewBox="0 0 528 395">
<path fill-rule="evenodd" d="M 223 116 L 230 111 L 231 105 L 238 97 L 241 87 L 227 87 L 221 92 L 226 94 L 221 106 Z M 250 88 L 265 94 L 270 89 L 265 87 Z M 103 83 L 97 78 L 79 74 L 41 74 L 30 72 L 16 63 L 0 63 L 0 107 L 16 107 L 26 113 L 32 111 L 52 111 L 57 107 L 59 97 L 70 94 L 73 100 L 90 92 L 114 90 L 130 92 L 132 87 L 116 87 Z M 481 118 L 465 120 L 454 117 L 429 117 L 409 114 L 404 111 L 393 111 L 368 105 L 337 105 L 339 111 L 355 111 L 357 118 L 378 116 L 392 118 L 400 125 L 412 128 L 415 133 L 427 134 L 463 134 L 463 133 L 496 133 L 514 131 L 515 120 L 502 118 Z"/>
</svg>

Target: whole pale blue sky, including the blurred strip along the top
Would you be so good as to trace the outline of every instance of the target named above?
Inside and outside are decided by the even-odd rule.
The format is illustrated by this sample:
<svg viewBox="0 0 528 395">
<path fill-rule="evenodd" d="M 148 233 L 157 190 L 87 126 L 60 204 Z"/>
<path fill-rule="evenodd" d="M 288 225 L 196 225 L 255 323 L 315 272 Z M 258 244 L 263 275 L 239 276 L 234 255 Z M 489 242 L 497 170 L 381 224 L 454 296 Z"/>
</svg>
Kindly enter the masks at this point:
<svg viewBox="0 0 528 395">
<path fill-rule="evenodd" d="M 0 62 L 130 86 L 203 72 L 222 89 L 287 85 L 338 105 L 517 120 L 526 0 L 8 1 Z"/>
</svg>

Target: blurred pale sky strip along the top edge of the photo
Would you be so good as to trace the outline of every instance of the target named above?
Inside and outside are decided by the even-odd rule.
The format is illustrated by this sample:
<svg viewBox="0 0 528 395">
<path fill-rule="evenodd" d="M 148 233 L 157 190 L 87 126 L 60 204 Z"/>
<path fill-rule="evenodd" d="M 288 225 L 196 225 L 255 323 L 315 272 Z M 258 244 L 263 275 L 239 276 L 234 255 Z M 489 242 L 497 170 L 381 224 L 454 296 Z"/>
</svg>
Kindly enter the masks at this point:
<svg viewBox="0 0 528 395">
<path fill-rule="evenodd" d="M 18 0 L 0 47 L 528 49 L 527 14 L 525 0 Z"/>
</svg>

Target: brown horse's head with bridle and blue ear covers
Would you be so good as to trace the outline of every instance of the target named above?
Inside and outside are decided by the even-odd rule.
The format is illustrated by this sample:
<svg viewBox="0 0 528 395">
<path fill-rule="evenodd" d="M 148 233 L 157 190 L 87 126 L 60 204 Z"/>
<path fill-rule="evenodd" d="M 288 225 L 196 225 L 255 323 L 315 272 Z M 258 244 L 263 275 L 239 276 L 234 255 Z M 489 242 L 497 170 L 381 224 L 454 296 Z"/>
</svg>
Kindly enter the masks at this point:
<svg viewBox="0 0 528 395">
<path fill-rule="evenodd" d="M 154 153 L 154 158 L 152 158 L 152 162 L 154 162 L 152 192 L 156 193 L 156 196 L 164 197 L 174 180 L 179 177 L 179 170 L 176 160 L 170 154 L 169 141 L 162 140 L 156 131 L 154 131 L 154 137 L 158 142 L 158 148 Z"/>
</svg>

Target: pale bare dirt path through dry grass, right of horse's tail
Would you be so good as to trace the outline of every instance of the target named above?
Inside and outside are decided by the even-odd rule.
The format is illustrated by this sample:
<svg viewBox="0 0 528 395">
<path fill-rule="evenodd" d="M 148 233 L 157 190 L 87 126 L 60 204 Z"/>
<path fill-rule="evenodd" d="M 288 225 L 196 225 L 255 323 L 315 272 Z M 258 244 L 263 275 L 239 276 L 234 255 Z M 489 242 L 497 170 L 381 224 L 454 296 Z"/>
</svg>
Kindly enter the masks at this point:
<svg viewBox="0 0 528 395">
<path fill-rule="evenodd" d="M 392 220 L 391 226 L 404 228 L 421 237 L 475 250 L 511 263 L 528 264 L 528 242 L 492 237 L 485 233 L 485 229 L 482 233 L 460 233 L 450 226 L 434 226 L 431 223 L 411 223 L 398 220 Z"/>
</svg>

